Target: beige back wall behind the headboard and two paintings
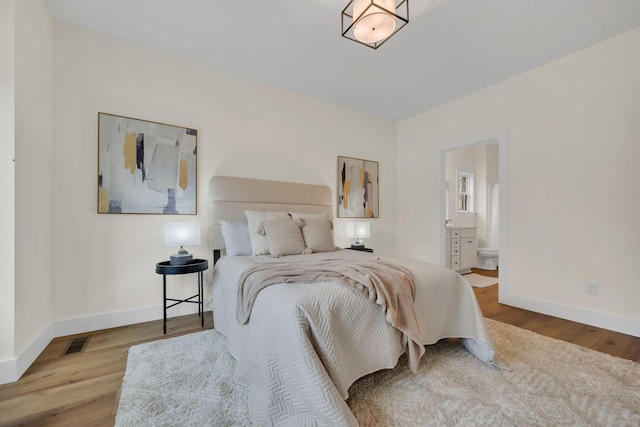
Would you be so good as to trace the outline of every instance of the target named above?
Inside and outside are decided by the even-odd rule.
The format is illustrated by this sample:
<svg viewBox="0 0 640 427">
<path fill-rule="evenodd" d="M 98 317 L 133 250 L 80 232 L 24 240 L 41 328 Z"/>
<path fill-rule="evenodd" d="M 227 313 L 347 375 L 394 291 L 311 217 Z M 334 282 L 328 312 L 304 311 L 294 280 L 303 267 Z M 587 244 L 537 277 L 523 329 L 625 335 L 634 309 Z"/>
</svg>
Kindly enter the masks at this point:
<svg viewBox="0 0 640 427">
<path fill-rule="evenodd" d="M 196 218 L 96 214 L 99 111 L 198 130 Z M 338 155 L 378 160 L 381 213 L 368 246 L 394 253 L 395 141 L 394 123 L 56 23 L 54 317 L 128 312 L 120 320 L 130 323 L 143 320 L 136 310 L 161 317 L 155 263 L 175 252 L 163 246 L 163 225 L 197 219 L 204 226 L 214 174 L 326 184 L 335 194 Z M 344 221 L 335 233 L 338 244 L 348 243 Z M 202 241 L 189 250 L 210 259 L 204 230 Z M 173 279 L 171 292 L 180 292 L 181 279 L 194 280 Z"/>
</svg>

